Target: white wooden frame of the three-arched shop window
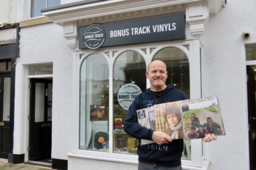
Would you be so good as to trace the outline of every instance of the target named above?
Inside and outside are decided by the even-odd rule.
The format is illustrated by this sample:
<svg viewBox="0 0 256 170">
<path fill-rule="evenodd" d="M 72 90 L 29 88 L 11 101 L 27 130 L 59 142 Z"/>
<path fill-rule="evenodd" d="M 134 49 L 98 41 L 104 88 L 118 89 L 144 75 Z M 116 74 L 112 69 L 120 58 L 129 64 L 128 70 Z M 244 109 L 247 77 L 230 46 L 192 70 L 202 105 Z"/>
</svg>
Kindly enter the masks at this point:
<svg viewBox="0 0 256 170">
<path fill-rule="evenodd" d="M 189 50 L 184 46 L 189 46 Z M 115 63 L 116 58 L 120 53 L 127 50 L 134 50 L 139 52 L 145 62 L 146 66 L 152 61 L 155 53 L 160 49 L 165 47 L 177 47 L 182 50 L 188 57 L 190 63 L 190 98 L 191 100 L 201 98 L 201 42 L 199 39 L 192 39 L 187 41 L 168 41 L 168 42 L 157 42 L 151 44 L 139 44 L 136 46 L 118 46 L 118 47 L 108 47 L 100 49 L 86 49 L 86 50 L 77 50 L 73 52 L 73 94 L 74 94 L 74 126 L 75 132 L 73 134 L 74 143 L 73 151 L 67 154 L 70 157 L 80 157 L 80 158 L 91 158 L 96 160 L 110 160 L 110 161 L 119 161 L 123 163 L 138 163 L 137 155 L 128 155 L 128 154 L 117 154 L 113 153 L 113 64 Z M 155 48 L 152 53 L 151 49 Z M 146 49 L 146 53 L 141 49 Z M 109 56 L 106 55 L 106 52 L 110 52 Z M 116 52 L 113 55 L 113 52 Z M 84 59 L 91 55 L 92 53 L 99 53 L 105 56 L 108 62 L 109 69 L 109 152 L 99 152 L 99 151 L 87 151 L 79 149 L 79 81 L 80 81 L 80 66 Z M 149 80 L 147 80 L 147 88 L 149 87 Z M 208 162 L 208 161 L 207 161 Z M 194 166 L 194 167 L 204 167 L 204 152 L 202 140 L 191 140 L 191 160 L 182 160 L 182 166 Z M 193 168 L 192 168 L 193 169 Z"/>
</svg>

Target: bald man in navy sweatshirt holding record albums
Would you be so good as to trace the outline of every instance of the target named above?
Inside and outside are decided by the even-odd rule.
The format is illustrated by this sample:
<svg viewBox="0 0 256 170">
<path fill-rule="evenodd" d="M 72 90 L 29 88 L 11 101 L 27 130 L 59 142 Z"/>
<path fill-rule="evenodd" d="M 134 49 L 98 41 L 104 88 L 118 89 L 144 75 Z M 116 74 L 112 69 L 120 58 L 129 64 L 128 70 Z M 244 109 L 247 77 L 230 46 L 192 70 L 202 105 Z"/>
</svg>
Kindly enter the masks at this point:
<svg viewBox="0 0 256 170">
<path fill-rule="evenodd" d="M 129 107 L 126 120 L 124 121 L 124 131 L 132 137 L 146 140 L 153 140 L 155 143 L 141 145 L 138 144 L 138 169 L 169 169 L 180 170 L 183 140 L 172 140 L 165 132 L 152 131 L 140 126 L 137 119 L 137 110 L 154 106 L 154 104 L 166 103 L 187 99 L 186 95 L 174 86 L 166 86 L 168 77 L 166 65 L 163 61 L 152 61 L 146 77 L 149 78 L 151 87 L 138 95 Z M 204 141 L 216 140 L 215 136 L 207 135 Z"/>
</svg>

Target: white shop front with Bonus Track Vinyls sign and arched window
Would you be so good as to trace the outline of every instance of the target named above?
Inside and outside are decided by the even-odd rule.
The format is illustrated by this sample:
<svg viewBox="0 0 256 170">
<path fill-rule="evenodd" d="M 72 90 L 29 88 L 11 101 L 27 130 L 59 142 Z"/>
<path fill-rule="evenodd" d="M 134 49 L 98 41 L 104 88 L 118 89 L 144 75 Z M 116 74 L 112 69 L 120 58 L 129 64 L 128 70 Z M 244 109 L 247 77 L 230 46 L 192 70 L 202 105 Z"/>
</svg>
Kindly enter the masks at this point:
<svg viewBox="0 0 256 170">
<path fill-rule="evenodd" d="M 149 88 L 148 64 L 164 61 L 166 84 L 190 99 L 202 98 L 201 35 L 208 15 L 222 5 L 81 1 L 42 10 L 63 25 L 73 51 L 74 133 L 68 169 L 136 169 L 139 143 L 123 131 L 123 121 L 134 98 Z M 207 169 L 208 163 L 202 140 L 185 140 L 183 169 Z"/>
</svg>

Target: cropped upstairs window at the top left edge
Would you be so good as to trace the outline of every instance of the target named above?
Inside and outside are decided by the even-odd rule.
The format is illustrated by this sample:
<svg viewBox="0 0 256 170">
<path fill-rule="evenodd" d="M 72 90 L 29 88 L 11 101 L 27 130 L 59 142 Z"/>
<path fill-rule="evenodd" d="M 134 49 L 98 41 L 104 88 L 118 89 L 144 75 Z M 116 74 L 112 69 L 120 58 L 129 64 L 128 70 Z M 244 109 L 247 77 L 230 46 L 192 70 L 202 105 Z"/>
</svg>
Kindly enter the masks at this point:
<svg viewBox="0 0 256 170">
<path fill-rule="evenodd" d="M 41 9 L 53 7 L 56 5 L 60 5 L 60 0 L 31 0 L 30 17 L 34 18 L 37 16 L 42 16 Z"/>
</svg>

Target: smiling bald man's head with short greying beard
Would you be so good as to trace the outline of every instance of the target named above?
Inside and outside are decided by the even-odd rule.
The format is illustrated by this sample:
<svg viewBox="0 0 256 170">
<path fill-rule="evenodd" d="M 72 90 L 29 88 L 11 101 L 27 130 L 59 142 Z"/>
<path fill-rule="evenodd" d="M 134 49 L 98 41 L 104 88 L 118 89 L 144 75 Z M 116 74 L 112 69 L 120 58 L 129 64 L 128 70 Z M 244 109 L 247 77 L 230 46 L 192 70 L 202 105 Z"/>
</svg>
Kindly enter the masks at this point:
<svg viewBox="0 0 256 170">
<path fill-rule="evenodd" d="M 162 61 L 153 61 L 149 70 L 146 72 L 146 77 L 149 78 L 151 90 L 160 91 L 165 89 L 165 81 L 167 76 L 165 63 Z"/>
</svg>

